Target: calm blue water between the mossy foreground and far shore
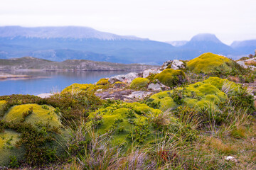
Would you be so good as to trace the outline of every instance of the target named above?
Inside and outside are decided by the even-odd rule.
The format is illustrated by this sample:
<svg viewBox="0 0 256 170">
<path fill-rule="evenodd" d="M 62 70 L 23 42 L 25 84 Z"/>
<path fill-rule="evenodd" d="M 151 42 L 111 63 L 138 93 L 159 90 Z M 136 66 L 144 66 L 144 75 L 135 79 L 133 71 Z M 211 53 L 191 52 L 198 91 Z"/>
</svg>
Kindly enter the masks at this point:
<svg viewBox="0 0 256 170">
<path fill-rule="evenodd" d="M 101 78 L 112 77 L 118 74 L 127 74 L 124 71 L 109 72 L 5 72 L 8 74 L 26 74 L 40 78 L 0 80 L 0 96 L 11 94 L 43 94 L 50 91 L 61 91 L 73 83 L 90 84 Z M 1 74 L 1 72 L 0 72 Z"/>
</svg>

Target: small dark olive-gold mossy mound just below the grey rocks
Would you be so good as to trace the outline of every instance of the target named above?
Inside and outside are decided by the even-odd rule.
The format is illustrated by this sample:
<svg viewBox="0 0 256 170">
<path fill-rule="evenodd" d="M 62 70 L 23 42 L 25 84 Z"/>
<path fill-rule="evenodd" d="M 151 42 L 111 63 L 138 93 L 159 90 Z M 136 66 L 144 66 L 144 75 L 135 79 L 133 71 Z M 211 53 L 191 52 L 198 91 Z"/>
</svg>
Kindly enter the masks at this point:
<svg viewBox="0 0 256 170">
<path fill-rule="evenodd" d="M 175 86 L 186 81 L 185 73 L 178 69 L 164 69 L 163 72 L 156 74 L 154 79 L 158 79 L 166 86 Z"/>
</svg>

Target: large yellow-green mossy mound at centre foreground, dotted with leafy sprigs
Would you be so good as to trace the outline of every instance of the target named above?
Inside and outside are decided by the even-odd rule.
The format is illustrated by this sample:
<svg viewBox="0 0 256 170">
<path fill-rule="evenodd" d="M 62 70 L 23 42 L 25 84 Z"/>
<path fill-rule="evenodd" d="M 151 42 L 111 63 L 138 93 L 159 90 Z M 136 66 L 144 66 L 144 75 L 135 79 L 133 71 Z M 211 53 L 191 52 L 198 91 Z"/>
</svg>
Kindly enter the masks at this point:
<svg viewBox="0 0 256 170">
<path fill-rule="evenodd" d="M 154 139 L 154 128 L 149 122 L 160 110 L 141 103 L 115 103 L 90 113 L 90 122 L 99 135 L 113 133 L 113 143 L 144 143 Z M 173 123 L 175 118 L 170 118 Z"/>
</svg>

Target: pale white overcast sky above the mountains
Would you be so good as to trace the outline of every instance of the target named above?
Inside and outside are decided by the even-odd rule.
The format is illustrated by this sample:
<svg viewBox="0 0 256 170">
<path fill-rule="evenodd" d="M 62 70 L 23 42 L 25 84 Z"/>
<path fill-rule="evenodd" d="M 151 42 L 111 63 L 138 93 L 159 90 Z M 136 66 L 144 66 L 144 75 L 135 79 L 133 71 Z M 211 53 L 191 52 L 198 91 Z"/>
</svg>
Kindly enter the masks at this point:
<svg viewBox="0 0 256 170">
<path fill-rule="evenodd" d="M 0 26 L 87 26 L 151 40 L 256 39 L 256 0 L 1 0 Z"/>
</svg>

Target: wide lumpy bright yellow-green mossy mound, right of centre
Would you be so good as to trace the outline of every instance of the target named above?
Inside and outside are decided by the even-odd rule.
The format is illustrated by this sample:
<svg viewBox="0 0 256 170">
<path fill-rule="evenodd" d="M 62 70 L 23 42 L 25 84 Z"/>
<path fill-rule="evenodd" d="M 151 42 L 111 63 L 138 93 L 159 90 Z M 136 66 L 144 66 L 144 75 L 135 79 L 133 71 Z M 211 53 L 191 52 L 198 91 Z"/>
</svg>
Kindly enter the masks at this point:
<svg viewBox="0 0 256 170">
<path fill-rule="evenodd" d="M 238 84 L 227 79 L 210 77 L 206 81 L 190 84 L 185 88 L 154 94 L 149 98 L 148 104 L 161 111 L 177 108 L 183 103 L 199 110 L 209 106 L 218 108 L 218 103 L 228 98 L 227 94 L 235 95 L 239 89 Z"/>
</svg>

